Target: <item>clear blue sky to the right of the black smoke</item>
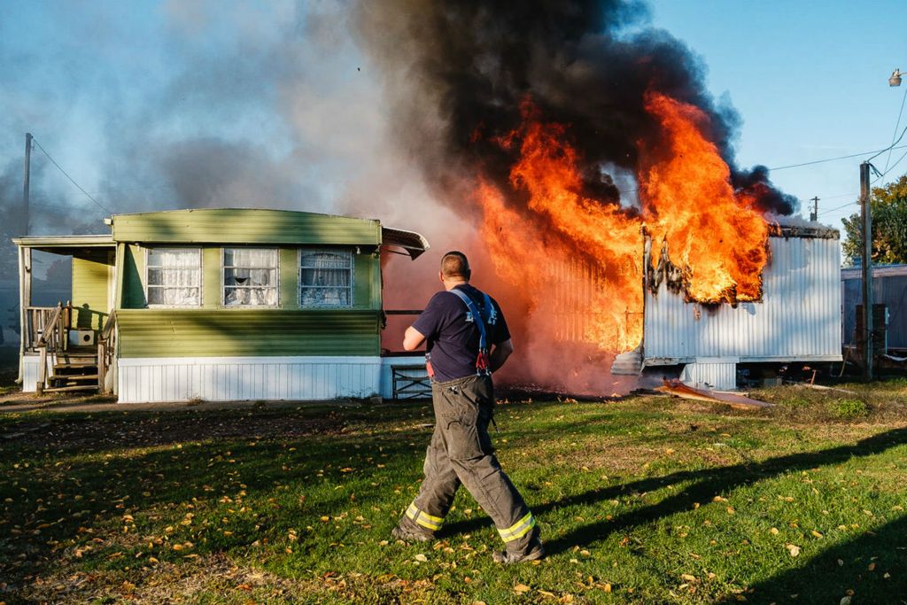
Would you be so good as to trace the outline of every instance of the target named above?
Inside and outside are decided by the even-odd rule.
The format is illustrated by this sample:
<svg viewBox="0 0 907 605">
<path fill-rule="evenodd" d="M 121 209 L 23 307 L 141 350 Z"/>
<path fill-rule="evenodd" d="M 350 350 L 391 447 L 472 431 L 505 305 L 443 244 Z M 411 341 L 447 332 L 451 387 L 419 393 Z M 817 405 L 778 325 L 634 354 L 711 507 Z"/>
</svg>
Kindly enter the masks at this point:
<svg viewBox="0 0 907 605">
<path fill-rule="evenodd" d="M 709 89 L 727 93 L 743 117 L 742 165 L 776 168 L 891 144 L 907 83 L 891 88 L 888 77 L 895 67 L 907 71 L 907 3 L 661 0 L 652 12 L 655 24 L 703 57 Z M 892 163 L 904 151 L 894 151 Z M 873 164 L 883 171 L 887 157 Z M 820 220 L 840 228 L 857 205 L 833 209 L 859 193 L 860 161 L 771 176 L 804 202 L 818 196 Z M 907 159 L 884 181 L 904 173 Z"/>
</svg>

